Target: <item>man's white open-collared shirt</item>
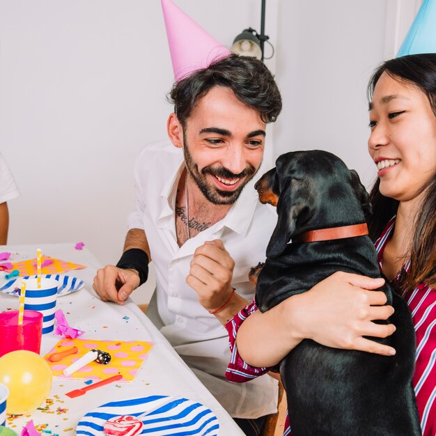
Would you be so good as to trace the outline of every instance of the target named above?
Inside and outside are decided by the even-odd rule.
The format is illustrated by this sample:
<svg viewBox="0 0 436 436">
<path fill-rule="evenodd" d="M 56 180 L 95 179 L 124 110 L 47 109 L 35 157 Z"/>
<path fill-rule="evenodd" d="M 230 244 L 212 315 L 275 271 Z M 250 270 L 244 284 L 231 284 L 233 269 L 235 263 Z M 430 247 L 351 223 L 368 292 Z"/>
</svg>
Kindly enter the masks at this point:
<svg viewBox="0 0 436 436">
<path fill-rule="evenodd" d="M 235 260 L 232 286 L 251 302 L 254 286 L 247 274 L 265 259 L 277 215 L 259 203 L 251 180 L 224 219 L 178 247 L 175 205 L 183 169 L 182 150 L 169 141 L 150 143 L 135 164 L 136 206 L 128 227 L 145 230 L 156 270 L 153 299 L 158 313 L 153 313 L 156 309 L 150 304 L 147 314 L 160 324 L 162 334 L 231 416 L 256 418 L 273 413 L 277 410 L 277 381 L 272 377 L 263 375 L 244 384 L 226 380 L 230 361 L 226 329 L 198 303 L 185 279 L 195 249 L 205 241 L 220 239 Z"/>
</svg>

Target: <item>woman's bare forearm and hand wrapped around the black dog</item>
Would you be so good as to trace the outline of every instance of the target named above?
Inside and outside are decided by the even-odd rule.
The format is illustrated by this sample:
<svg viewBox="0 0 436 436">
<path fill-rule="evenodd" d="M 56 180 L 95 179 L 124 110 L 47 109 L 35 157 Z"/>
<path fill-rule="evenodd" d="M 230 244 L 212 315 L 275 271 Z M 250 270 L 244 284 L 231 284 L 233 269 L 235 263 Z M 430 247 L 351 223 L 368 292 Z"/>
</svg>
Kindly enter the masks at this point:
<svg viewBox="0 0 436 436">
<path fill-rule="evenodd" d="M 384 279 L 335 272 L 307 292 L 244 320 L 236 338 L 238 352 L 251 366 L 275 366 L 307 338 L 333 348 L 394 355 L 394 348 L 363 337 L 395 332 L 392 324 L 372 322 L 394 313 L 392 306 L 384 306 L 386 295 L 375 290 L 383 284 Z"/>
</svg>

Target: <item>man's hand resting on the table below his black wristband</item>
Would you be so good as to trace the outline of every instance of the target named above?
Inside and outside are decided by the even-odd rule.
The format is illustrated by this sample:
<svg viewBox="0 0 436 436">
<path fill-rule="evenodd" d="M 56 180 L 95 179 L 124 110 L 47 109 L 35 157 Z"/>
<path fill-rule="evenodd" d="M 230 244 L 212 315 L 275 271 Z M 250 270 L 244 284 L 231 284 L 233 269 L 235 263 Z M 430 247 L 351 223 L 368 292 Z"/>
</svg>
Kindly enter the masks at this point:
<svg viewBox="0 0 436 436">
<path fill-rule="evenodd" d="M 114 265 L 106 265 L 97 270 L 93 290 L 104 302 L 125 303 L 129 295 L 139 286 L 137 270 L 121 270 Z"/>
</svg>

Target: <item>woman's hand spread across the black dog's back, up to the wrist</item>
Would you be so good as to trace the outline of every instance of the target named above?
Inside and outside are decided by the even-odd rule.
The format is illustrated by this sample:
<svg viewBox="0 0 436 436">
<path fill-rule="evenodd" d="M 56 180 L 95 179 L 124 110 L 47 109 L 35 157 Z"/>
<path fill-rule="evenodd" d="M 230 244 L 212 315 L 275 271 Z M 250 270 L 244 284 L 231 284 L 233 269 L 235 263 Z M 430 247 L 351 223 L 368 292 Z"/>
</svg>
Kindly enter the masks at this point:
<svg viewBox="0 0 436 436">
<path fill-rule="evenodd" d="M 289 299 L 294 299 L 288 302 L 293 329 L 299 338 L 311 338 L 328 347 L 394 355 L 394 348 L 363 337 L 386 338 L 395 332 L 392 324 L 373 322 L 387 320 L 394 313 L 392 306 L 384 305 L 386 295 L 375 290 L 383 284 L 381 278 L 335 272 L 308 292 Z"/>
</svg>

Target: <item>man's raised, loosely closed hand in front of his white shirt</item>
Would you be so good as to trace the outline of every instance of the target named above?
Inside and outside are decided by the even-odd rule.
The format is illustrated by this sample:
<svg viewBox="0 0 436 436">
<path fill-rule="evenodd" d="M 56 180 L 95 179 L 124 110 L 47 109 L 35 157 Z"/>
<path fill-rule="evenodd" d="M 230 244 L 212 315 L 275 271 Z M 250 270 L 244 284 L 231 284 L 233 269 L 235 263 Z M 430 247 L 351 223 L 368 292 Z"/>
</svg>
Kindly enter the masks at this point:
<svg viewBox="0 0 436 436">
<path fill-rule="evenodd" d="M 235 261 L 221 240 L 206 241 L 194 252 L 186 283 L 198 294 L 208 311 L 219 309 L 233 293 L 231 281 Z"/>
</svg>

